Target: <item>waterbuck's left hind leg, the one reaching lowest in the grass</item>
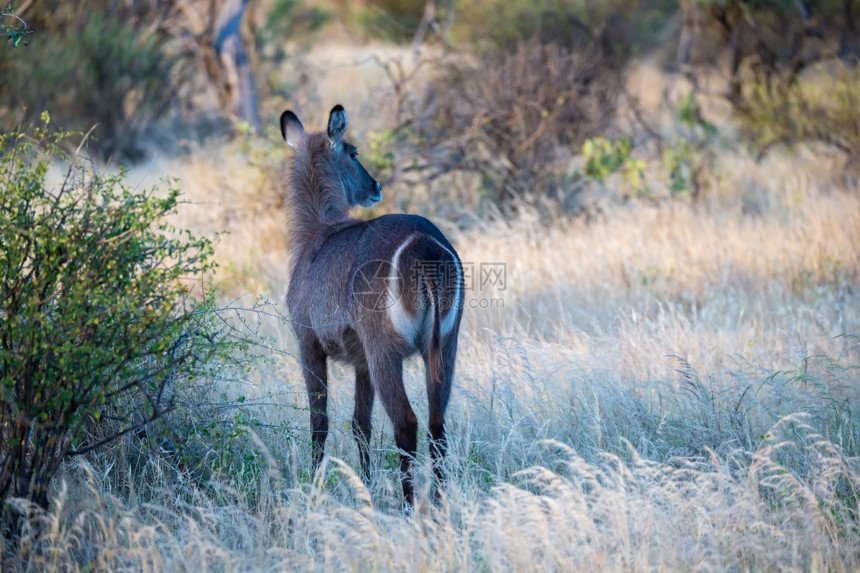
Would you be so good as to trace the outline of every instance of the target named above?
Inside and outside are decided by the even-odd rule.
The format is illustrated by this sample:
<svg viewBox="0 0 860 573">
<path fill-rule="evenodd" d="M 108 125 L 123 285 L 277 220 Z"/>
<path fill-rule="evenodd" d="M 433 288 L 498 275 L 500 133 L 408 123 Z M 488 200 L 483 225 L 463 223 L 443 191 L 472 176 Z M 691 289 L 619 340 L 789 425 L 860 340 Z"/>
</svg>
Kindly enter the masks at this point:
<svg viewBox="0 0 860 573">
<path fill-rule="evenodd" d="M 396 353 L 369 356 L 370 379 L 385 412 L 394 425 L 394 442 L 400 448 L 400 471 L 403 474 L 403 497 L 412 505 L 412 461 L 418 449 L 418 418 L 403 388 L 403 359 Z"/>
</svg>

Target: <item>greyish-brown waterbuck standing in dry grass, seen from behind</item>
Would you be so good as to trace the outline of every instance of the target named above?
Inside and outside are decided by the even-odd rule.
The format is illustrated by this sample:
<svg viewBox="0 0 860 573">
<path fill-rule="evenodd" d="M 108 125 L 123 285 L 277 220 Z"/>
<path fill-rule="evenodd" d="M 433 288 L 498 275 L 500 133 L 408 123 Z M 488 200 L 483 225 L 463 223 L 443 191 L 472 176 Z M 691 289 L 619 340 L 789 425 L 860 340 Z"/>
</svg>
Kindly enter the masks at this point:
<svg viewBox="0 0 860 573">
<path fill-rule="evenodd" d="M 352 431 L 368 477 L 371 411 L 382 401 L 402 451 L 403 494 L 413 502 L 412 461 L 418 420 L 403 387 L 403 360 L 420 354 L 426 367 L 430 454 L 442 478 L 445 409 L 463 308 L 463 268 L 433 223 L 415 215 L 352 219 L 348 210 L 382 198 L 379 183 L 344 141 L 343 107 L 325 132 L 305 133 L 285 111 L 281 133 L 295 149 L 289 181 L 292 264 L 287 308 L 299 343 L 310 401 L 313 464 L 328 433 L 328 358 L 355 368 Z"/>
</svg>

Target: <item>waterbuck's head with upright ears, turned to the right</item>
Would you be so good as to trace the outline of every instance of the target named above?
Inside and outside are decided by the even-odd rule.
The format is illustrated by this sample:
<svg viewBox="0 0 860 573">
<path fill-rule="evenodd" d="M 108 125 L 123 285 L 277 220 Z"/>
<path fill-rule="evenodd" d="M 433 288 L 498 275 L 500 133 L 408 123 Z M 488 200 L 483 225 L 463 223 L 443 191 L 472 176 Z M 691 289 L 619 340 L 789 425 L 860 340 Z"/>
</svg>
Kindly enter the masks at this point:
<svg viewBox="0 0 860 573">
<path fill-rule="evenodd" d="M 296 114 L 289 110 L 281 114 L 281 134 L 287 145 L 310 161 L 331 188 L 342 189 L 350 207 L 370 207 L 382 199 L 382 187 L 359 163 L 355 146 L 344 140 L 347 125 L 346 111 L 340 105 L 331 110 L 325 133 L 305 133 Z"/>
</svg>

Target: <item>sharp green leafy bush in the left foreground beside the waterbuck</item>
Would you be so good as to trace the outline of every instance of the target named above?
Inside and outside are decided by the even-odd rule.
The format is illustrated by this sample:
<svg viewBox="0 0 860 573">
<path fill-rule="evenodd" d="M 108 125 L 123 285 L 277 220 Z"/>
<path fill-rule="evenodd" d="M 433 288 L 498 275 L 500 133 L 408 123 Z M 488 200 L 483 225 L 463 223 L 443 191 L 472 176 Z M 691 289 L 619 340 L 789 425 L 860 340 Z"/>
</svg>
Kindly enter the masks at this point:
<svg viewBox="0 0 860 573">
<path fill-rule="evenodd" d="M 42 507 L 65 458 L 169 412 L 226 349 L 211 301 L 189 291 L 211 243 L 165 222 L 178 192 L 132 190 L 79 158 L 49 187 L 62 142 L 46 127 L 0 135 L 0 500 Z"/>
</svg>

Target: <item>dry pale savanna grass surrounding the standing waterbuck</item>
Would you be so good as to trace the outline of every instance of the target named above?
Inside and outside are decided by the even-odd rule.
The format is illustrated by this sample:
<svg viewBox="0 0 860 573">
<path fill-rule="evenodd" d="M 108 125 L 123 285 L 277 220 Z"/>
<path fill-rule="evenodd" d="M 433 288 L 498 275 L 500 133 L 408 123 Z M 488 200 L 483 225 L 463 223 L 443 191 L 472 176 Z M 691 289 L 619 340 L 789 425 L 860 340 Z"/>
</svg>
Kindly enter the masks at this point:
<svg viewBox="0 0 860 573">
<path fill-rule="evenodd" d="M 306 126 L 346 106 L 363 155 L 393 121 L 372 55 L 413 57 L 334 43 L 283 71 L 312 78 L 286 102 Z M 680 129 L 656 94 L 685 80 L 644 60 L 626 82 L 654 129 Z M 310 473 L 283 314 L 289 151 L 277 115 L 262 137 L 133 167 L 133 185 L 177 178 L 175 225 L 224 233 L 209 281 L 246 342 L 152 431 L 169 439 L 132 434 L 67 462 L 50 511 L 6 549 L 2 570 L 860 569 L 856 172 L 820 143 L 757 155 L 716 98 L 702 101 L 719 136 L 696 198 L 666 191 L 660 158 L 647 155 L 650 193 L 618 173 L 592 178 L 570 214 L 526 199 L 487 208 L 470 177 L 383 189 L 374 215 L 430 217 L 474 273 L 438 505 L 423 364 L 405 364 L 420 424 L 411 513 L 379 405 L 372 481 L 358 475 L 352 373 L 339 366 L 326 462 Z"/>
</svg>

